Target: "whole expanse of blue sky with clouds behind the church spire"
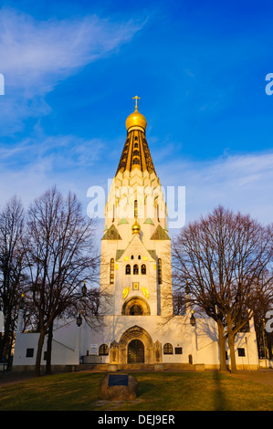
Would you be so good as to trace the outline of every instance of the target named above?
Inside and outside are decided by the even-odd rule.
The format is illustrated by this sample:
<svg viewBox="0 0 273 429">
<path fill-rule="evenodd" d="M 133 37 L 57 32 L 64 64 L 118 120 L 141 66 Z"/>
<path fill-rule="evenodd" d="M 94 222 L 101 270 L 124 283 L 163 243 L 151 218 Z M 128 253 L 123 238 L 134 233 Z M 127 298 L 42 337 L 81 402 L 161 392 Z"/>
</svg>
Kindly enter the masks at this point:
<svg viewBox="0 0 273 429">
<path fill-rule="evenodd" d="M 186 221 L 224 204 L 273 220 L 270 2 L 3 1 L 0 203 L 107 186 L 138 95 Z"/>
</svg>

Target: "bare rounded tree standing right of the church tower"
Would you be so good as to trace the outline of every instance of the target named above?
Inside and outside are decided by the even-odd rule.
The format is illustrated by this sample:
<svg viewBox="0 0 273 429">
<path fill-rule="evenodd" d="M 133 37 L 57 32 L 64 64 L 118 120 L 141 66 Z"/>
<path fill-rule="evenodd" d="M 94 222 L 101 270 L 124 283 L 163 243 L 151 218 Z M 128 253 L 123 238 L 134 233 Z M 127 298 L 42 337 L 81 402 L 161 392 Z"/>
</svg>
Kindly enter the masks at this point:
<svg viewBox="0 0 273 429">
<path fill-rule="evenodd" d="M 272 285 L 272 227 L 222 206 L 184 227 L 173 244 L 174 284 L 187 284 L 194 305 L 215 319 L 220 367 L 236 371 L 235 337 L 251 319 Z M 272 289 L 271 289 L 272 290 Z"/>
</svg>

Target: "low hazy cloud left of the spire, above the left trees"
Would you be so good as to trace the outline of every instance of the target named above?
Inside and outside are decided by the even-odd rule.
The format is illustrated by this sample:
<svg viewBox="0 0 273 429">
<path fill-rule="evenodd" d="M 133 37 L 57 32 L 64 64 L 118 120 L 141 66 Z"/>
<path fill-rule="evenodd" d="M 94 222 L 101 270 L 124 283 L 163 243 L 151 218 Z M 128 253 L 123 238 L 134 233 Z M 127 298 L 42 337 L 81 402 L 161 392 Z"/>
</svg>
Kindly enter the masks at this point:
<svg viewBox="0 0 273 429">
<path fill-rule="evenodd" d="M 27 138 L 12 149 L 2 145 L 0 205 L 16 194 L 27 206 L 55 184 L 61 192 L 75 192 L 85 204 L 89 186 L 101 181 L 95 165 L 104 147 L 99 139 L 73 135 Z"/>
</svg>

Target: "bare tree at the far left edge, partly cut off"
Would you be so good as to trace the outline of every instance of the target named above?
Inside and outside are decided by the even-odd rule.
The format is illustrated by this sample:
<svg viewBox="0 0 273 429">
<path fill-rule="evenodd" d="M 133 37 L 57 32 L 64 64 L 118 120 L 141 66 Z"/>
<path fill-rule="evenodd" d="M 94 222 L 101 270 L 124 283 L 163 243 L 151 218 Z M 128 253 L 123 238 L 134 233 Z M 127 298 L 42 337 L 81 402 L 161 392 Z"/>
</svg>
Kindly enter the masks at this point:
<svg viewBox="0 0 273 429">
<path fill-rule="evenodd" d="M 0 213 L 0 309 L 5 333 L 0 335 L 0 360 L 10 361 L 17 319 L 17 306 L 24 291 L 24 208 L 16 196 Z"/>
</svg>

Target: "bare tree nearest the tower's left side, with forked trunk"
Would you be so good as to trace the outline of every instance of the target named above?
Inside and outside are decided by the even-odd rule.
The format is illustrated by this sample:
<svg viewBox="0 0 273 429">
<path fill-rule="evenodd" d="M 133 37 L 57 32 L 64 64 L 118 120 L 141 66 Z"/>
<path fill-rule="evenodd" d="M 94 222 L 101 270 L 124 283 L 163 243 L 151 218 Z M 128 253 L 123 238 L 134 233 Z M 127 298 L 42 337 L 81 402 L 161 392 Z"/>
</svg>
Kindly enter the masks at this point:
<svg viewBox="0 0 273 429">
<path fill-rule="evenodd" d="M 89 291 L 83 294 L 81 288 L 84 281 L 91 287 L 95 283 L 99 258 L 95 249 L 94 220 L 82 214 L 75 194 L 69 193 L 64 198 L 56 187 L 31 204 L 27 235 L 29 293 L 39 332 L 36 361 L 39 375 L 46 335 L 49 361 L 53 322 L 68 309 L 79 308 L 83 298 L 85 305 L 88 304 L 91 294 Z M 50 362 L 47 371 L 49 368 Z"/>
</svg>

